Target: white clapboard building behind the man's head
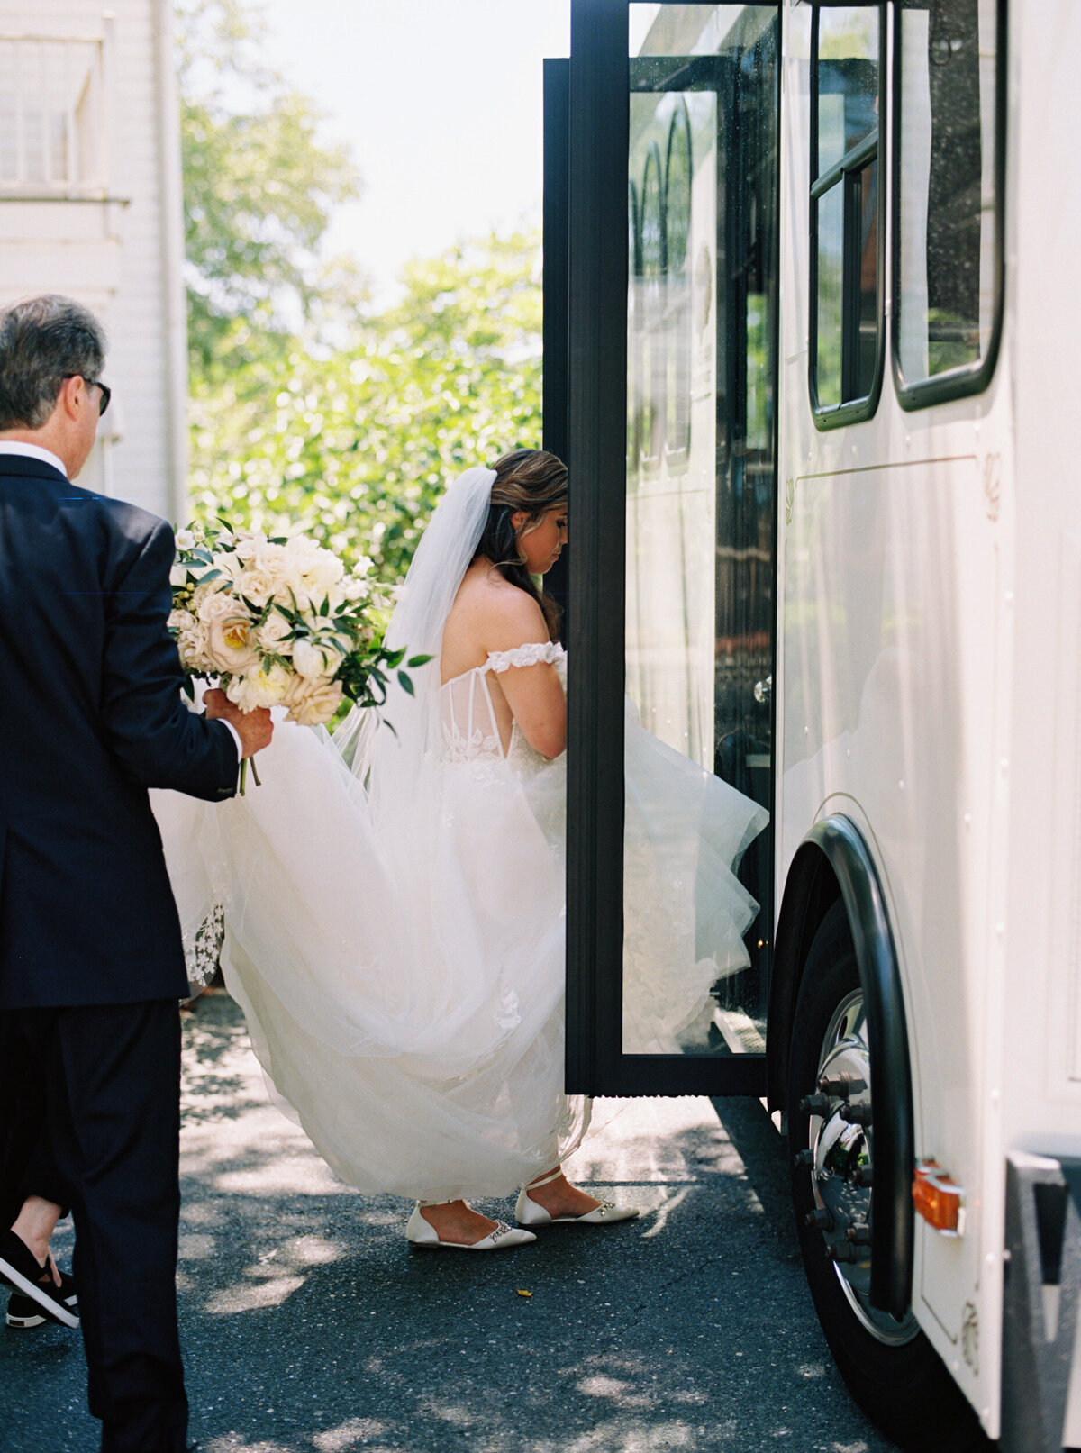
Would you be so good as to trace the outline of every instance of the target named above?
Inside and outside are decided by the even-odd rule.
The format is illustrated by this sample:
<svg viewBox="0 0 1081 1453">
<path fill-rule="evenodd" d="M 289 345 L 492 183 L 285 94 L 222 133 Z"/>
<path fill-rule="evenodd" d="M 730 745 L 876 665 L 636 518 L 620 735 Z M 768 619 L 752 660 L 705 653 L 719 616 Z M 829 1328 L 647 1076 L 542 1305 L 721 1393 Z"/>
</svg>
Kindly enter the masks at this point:
<svg viewBox="0 0 1081 1453">
<path fill-rule="evenodd" d="M 0 0 L 0 304 L 103 318 L 113 405 L 80 484 L 183 511 L 187 394 L 171 0 Z"/>
</svg>

